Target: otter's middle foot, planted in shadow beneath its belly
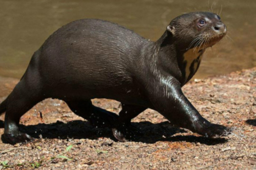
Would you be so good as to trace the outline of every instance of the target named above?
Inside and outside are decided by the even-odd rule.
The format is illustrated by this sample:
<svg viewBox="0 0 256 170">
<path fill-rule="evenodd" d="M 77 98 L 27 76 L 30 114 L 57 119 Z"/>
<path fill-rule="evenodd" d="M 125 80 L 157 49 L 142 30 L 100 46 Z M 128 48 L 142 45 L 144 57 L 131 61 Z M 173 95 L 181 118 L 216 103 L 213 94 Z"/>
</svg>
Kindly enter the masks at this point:
<svg viewBox="0 0 256 170">
<path fill-rule="evenodd" d="M 112 128 L 113 136 L 120 142 L 126 142 L 131 140 L 137 140 L 142 133 L 137 127 L 129 124 L 118 125 L 117 127 Z"/>
</svg>

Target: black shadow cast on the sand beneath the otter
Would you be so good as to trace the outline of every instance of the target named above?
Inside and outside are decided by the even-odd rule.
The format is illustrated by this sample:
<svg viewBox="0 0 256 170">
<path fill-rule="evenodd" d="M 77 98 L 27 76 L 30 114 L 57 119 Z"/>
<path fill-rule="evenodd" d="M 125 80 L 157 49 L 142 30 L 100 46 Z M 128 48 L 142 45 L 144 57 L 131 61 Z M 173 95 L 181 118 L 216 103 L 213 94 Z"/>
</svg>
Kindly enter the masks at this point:
<svg viewBox="0 0 256 170">
<path fill-rule="evenodd" d="M 176 133 L 186 133 L 186 131 L 178 127 L 173 127 L 167 121 L 157 124 L 151 122 L 134 122 L 132 124 L 142 132 L 134 142 L 155 143 L 158 141 L 185 141 L 190 143 L 200 142 L 201 144 L 207 145 L 227 142 L 227 139 L 209 139 L 203 136 L 183 136 L 182 134 L 173 136 Z M 56 123 L 51 124 L 20 125 L 20 131 L 28 133 L 34 138 L 39 138 L 39 135 L 42 135 L 43 138 L 47 139 L 98 139 L 100 137 L 107 137 L 116 141 L 110 128 L 94 128 L 89 122 L 81 120 L 70 121 L 67 123 L 57 121 Z"/>
</svg>

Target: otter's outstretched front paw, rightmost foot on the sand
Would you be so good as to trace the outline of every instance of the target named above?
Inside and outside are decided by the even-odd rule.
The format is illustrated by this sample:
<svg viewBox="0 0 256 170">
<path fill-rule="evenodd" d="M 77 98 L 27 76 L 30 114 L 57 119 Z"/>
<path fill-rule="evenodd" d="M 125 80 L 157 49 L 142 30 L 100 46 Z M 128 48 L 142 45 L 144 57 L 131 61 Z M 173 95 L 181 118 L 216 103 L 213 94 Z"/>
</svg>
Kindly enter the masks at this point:
<svg viewBox="0 0 256 170">
<path fill-rule="evenodd" d="M 231 131 L 232 130 L 229 127 L 209 123 L 208 125 L 198 128 L 197 133 L 207 138 L 219 138 L 221 136 L 229 135 Z"/>
</svg>

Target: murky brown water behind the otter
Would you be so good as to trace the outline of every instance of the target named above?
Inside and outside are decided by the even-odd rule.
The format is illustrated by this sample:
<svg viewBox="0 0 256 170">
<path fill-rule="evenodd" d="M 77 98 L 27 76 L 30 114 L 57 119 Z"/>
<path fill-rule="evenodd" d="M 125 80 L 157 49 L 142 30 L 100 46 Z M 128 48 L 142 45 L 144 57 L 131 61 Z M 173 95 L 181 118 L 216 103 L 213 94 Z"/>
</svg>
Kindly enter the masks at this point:
<svg viewBox="0 0 256 170">
<path fill-rule="evenodd" d="M 251 68 L 256 66 L 255 10 L 255 0 L 0 0 L 0 76 L 20 78 L 44 40 L 73 20 L 109 20 L 157 40 L 174 17 L 192 11 L 221 11 L 232 39 L 207 51 L 195 78 Z"/>
</svg>

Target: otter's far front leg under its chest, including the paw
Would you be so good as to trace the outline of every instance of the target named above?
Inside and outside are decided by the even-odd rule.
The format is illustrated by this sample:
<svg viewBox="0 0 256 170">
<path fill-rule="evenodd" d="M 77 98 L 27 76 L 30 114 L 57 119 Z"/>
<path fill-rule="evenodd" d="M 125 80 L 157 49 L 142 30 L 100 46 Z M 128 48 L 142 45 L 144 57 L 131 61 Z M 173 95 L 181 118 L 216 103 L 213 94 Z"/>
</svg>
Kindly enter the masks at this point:
<svg viewBox="0 0 256 170">
<path fill-rule="evenodd" d="M 122 110 L 119 112 L 119 120 L 114 128 L 113 135 L 121 142 L 136 140 L 140 136 L 140 130 L 131 125 L 131 119 L 145 111 L 145 107 L 136 105 L 122 104 Z"/>
</svg>

